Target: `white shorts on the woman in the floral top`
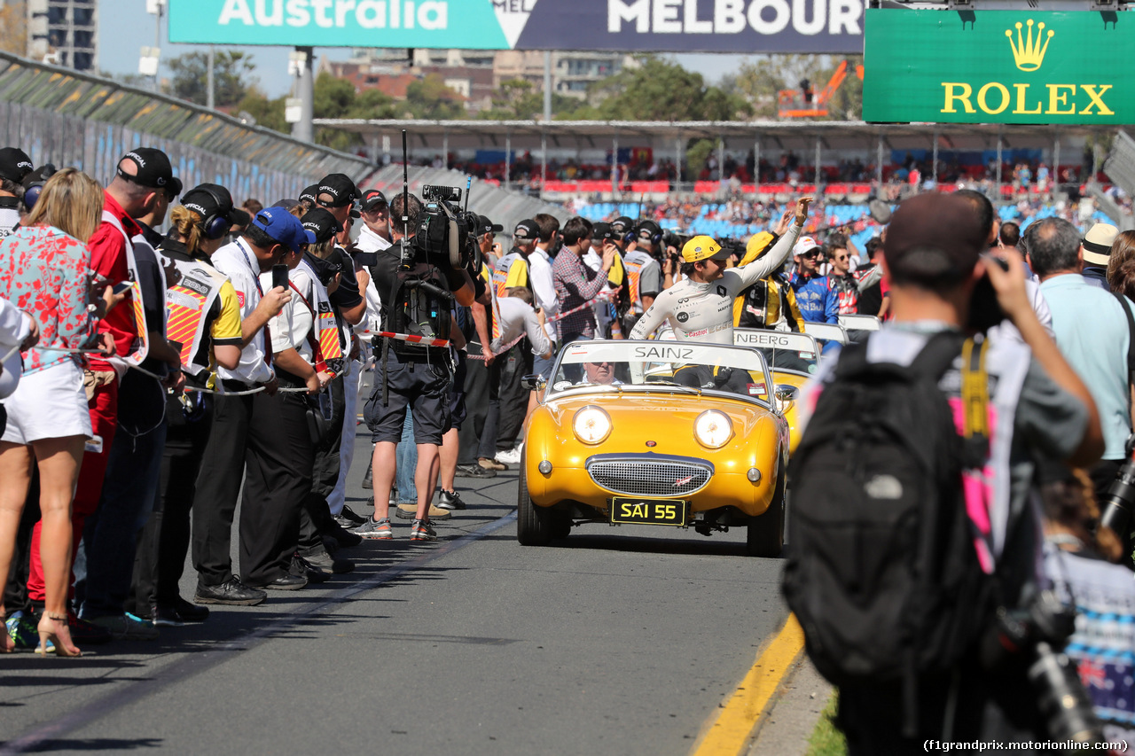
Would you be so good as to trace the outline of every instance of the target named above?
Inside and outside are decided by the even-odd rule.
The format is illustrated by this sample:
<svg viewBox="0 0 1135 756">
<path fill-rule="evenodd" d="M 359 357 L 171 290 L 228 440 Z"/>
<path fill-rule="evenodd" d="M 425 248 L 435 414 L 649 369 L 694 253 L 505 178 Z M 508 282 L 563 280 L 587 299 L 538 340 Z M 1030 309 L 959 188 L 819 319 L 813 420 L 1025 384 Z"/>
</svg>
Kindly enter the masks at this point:
<svg viewBox="0 0 1135 756">
<path fill-rule="evenodd" d="M 83 369 L 70 360 L 20 378 L 3 406 L 8 427 L 0 440 L 31 444 L 42 438 L 91 437 Z"/>
</svg>

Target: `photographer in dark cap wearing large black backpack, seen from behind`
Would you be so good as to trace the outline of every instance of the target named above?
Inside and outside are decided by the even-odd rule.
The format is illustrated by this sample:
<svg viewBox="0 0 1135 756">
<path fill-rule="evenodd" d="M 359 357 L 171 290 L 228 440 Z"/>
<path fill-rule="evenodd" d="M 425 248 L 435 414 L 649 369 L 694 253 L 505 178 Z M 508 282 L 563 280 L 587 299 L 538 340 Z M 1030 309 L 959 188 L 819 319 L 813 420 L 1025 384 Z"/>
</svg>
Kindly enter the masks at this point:
<svg viewBox="0 0 1135 756">
<path fill-rule="evenodd" d="M 797 400 L 783 589 L 852 755 L 1099 738 L 1060 653 L 1074 625 L 1039 573 L 1032 502 L 1039 467 L 1100 457 L 1100 417 L 1020 255 L 1002 267 L 986 249 L 964 198 L 903 201 L 883 257 L 894 320 Z M 990 305 L 1023 343 L 967 338 Z"/>
</svg>

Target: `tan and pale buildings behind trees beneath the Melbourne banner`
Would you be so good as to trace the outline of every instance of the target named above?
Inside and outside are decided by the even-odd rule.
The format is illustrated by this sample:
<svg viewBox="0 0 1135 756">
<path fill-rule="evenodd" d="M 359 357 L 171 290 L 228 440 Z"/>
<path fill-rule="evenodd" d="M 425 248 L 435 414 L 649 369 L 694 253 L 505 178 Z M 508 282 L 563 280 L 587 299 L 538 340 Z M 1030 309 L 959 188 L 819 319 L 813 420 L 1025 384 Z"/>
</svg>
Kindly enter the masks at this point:
<svg viewBox="0 0 1135 756">
<path fill-rule="evenodd" d="M 533 91 L 544 91 L 544 52 L 539 50 L 424 50 L 412 58 L 405 50 L 355 49 L 350 60 L 323 60 L 321 70 L 354 84 L 356 91 L 378 89 L 398 100 L 415 78 L 437 75 L 465 99 L 477 112 L 493 106 L 493 93 L 502 82 L 523 79 Z M 583 100 L 587 87 L 613 76 L 633 58 L 621 52 L 553 52 L 552 90 Z"/>
</svg>

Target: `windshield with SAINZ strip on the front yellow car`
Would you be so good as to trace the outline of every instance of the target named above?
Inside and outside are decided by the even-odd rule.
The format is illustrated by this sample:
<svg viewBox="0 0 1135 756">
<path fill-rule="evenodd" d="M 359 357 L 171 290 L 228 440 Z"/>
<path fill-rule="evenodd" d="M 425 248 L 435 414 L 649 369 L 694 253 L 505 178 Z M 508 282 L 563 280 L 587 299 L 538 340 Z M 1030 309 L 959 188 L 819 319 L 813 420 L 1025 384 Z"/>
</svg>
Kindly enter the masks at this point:
<svg viewBox="0 0 1135 756">
<path fill-rule="evenodd" d="M 549 395 L 650 388 L 768 401 L 765 361 L 755 350 L 679 342 L 573 342 L 560 353 Z"/>
</svg>

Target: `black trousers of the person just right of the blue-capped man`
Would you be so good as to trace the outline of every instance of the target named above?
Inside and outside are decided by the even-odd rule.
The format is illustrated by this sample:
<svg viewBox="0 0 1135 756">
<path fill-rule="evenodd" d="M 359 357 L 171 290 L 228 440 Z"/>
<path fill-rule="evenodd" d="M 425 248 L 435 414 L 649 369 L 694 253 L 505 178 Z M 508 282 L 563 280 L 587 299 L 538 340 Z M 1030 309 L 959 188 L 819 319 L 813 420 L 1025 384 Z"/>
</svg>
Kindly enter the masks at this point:
<svg viewBox="0 0 1135 756">
<path fill-rule="evenodd" d="M 280 387 L 296 386 L 279 371 L 277 378 Z M 306 394 L 254 394 L 252 400 L 241 499 L 241 574 L 247 585 L 263 586 L 287 573 L 295 553 L 316 450 L 308 430 Z"/>
</svg>

